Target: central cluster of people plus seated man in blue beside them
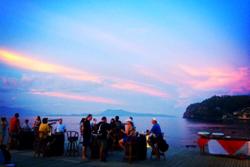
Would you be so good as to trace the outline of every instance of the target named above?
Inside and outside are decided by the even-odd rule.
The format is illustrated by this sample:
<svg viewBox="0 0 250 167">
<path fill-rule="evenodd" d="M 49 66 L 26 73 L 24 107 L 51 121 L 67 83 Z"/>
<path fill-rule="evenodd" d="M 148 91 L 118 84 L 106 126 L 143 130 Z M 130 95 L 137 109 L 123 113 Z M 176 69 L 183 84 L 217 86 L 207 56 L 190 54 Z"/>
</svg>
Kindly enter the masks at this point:
<svg viewBox="0 0 250 167">
<path fill-rule="evenodd" d="M 106 161 L 108 149 L 117 147 L 125 149 L 126 143 L 134 140 L 137 135 L 132 117 L 126 119 L 124 123 L 119 120 L 119 116 L 111 118 L 110 123 L 107 123 L 105 116 L 101 118 L 99 123 L 97 123 L 95 118 L 91 123 L 92 119 L 93 116 L 89 114 L 80 122 L 80 131 L 83 137 L 82 160 L 87 159 L 87 149 L 91 149 L 93 140 L 96 140 L 99 146 L 99 159 Z M 146 135 L 148 138 L 147 142 L 152 149 L 154 149 L 155 143 L 163 138 L 160 125 L 156 118 L 152 119 L 152 128 L 148 130 Z"/>
</svg>

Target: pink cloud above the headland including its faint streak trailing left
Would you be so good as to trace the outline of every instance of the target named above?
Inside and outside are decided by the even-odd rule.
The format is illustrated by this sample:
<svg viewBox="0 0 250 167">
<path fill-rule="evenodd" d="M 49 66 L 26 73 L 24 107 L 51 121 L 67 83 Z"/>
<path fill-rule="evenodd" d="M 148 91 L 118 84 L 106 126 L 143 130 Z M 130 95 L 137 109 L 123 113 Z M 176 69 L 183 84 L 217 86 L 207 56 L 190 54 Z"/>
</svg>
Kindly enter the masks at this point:
<svg viewBox="0 0 250 167">
<path fill-rule="evenodd" d="M 199 91 L 213 90 L 223 90 L 228 94 L 250 93 L 249 67 L 179 65 L 163 73 L 139 67 L 137 73 L 154 82 L 175 86 L 179 98 L 194 96 Z"/>
</svg>

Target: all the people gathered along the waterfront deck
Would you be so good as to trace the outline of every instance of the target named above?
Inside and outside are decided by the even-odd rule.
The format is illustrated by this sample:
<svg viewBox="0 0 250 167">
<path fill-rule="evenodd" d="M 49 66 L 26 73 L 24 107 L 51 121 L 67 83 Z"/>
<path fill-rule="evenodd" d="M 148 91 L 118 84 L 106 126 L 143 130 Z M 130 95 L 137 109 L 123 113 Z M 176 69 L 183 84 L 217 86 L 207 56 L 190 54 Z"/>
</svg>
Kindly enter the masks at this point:
<svg viewBox="0 0 250 167">
<path fill-rule="evenodd" d="M 52 124 L 56 124 L 54 132 L 52 132 Z M 48 118 L 41 119 L 37 116 L 33 125 L 30 126 L 29 120 L 26 119 L 23 125 L 20 125 L 19 114 L 16 113 L 9 121 L 6 118 L 1 118 L 0 124 L 0 145 L 18 145 L 20 131 L 33 132 L 34 136 L 38 137 L 40 141 L 46 143 L 48 136 L 51 133 L 59 134 L 63 136 L 64 145 L 64 133 L 66 132 L 66 126 L 63 124 L 62 119 L 48 120 Z M 133 118 L 129 117 L 124 123 L 119 119 L 119 116 L 115 116 L 107 122 L 107 118 L 103 116 L 100 122 L 94 118 L 91 114 L 82 118 L 80 122 L 80 133 L 82 136 L 82 160 L 86 160 L 90 155 L 87 155 L 88 149 L 93 147 L 93 141 L 99 148 L 99 159 L 106 161 L 108 149 L 122 148 L 125 149 L 127 142 L 133 140 L 136 136 L 136 127 L 133 122 Z M 152 128 L 147 131 L 148 143 L 152 148 L 154 143 L 162 138 L 162 132 L 160 125 L 155 118 L 152 119 Z M 62 148 L 64 149 L 64 147 Z"/>
</svg>

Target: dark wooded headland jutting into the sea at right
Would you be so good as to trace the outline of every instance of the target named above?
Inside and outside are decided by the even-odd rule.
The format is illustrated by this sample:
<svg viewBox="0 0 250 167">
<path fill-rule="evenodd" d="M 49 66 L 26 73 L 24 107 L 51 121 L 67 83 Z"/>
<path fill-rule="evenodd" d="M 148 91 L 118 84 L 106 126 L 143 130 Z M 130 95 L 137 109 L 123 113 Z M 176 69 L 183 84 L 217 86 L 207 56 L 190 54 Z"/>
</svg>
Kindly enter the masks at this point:
<svg viewBox="0 0 250 167">
<path fill-rule="evenodd" d="M 250 95 L 213 96 L 187 107 L 183 118 L 221 121 L 250 120 Z"/>
</svg>

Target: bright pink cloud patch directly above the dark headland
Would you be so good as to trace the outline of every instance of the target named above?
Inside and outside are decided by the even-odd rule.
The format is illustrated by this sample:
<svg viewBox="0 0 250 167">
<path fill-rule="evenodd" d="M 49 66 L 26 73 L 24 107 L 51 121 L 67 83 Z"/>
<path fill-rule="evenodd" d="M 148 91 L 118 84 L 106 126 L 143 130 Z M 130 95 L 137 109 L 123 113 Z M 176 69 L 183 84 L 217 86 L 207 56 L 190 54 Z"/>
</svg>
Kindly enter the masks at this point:
<svg viewBox="0 0 250 167">
<path fill-rule="evenodd" d="M 184 82 L 193 89 L 227 89 L 230 93 L 250 92 L 250 68 L 179 66 L 184 72 Z"/>
</svg>

